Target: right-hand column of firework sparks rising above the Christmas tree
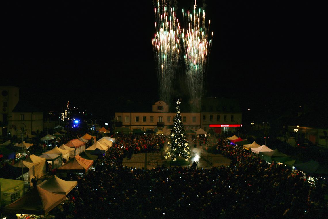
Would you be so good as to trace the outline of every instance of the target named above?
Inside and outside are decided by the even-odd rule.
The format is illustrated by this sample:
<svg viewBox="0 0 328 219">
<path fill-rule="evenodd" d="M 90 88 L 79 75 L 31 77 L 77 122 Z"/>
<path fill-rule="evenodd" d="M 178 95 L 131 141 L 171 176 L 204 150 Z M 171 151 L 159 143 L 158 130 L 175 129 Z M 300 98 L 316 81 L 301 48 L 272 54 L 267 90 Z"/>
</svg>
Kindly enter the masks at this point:
<svg viewBox="0 0 328 219">
<path fill-rule="evenodd" d="M 181 36 L 188 80 L 187 85 L 192 103 L 191 109 L 192 111 L 199 111 L 203 92 L 204 72 L 212 39 L 209 42 L 207 41 L 208 35 L 205 33 L 205 11 L 196 10 L 196 1 L 193 13 L 189 10 L 186 13 L 182 10 L 182 13 L 184 25 L 188 27 L 186 30 L 183 29 Z"/>
</svg>

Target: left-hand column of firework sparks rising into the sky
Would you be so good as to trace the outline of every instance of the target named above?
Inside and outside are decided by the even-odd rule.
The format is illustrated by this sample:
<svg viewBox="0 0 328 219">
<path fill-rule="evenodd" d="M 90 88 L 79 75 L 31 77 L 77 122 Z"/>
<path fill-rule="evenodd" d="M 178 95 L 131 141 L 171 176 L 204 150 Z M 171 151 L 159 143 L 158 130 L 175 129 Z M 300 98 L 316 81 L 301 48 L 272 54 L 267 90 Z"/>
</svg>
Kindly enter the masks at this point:
<svg viewBox="0 0 328 219">
<path fill-rule="evenodd" d="M 157 0 L 155 6 L 155 31 L 152 39 L 154 56 L 157 61 L 159 98 L 170 101 L 174 75 L 179 59 L 179 23 L 169 1 Z"/>
</svg>

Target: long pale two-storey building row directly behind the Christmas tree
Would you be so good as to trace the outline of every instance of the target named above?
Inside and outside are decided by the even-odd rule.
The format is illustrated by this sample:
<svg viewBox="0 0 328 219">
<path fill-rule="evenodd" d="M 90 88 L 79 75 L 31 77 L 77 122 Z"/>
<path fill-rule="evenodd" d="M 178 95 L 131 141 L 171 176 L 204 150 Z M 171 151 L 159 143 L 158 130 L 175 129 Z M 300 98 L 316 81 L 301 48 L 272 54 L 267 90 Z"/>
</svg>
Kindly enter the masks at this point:
<svg viewBox="0 0 328 219">
<path fill-rule="evenodd" d="M 228 105 L 225 105 L 226 102 L 226 99 L 205 99 L 203 102 L 204 111 L 200 113 L 184 113 L 181 109 L 180 115 L 185 130 L 196 131 L 202 128 L 204 131 L 209 132 L 212 128 L 215 133 L 223 133 L 227 130 L 234 131 L 235 127 L 232 127 L 232 125 L 238 127 L 237 125 L 240 126 L 241 124 L 241 112 L 238 112 L 240 107 L 236 100 L 228 101 L 231 103 Z M 233 109 L 231 106 L 235 105 L 235 109 L 231 112 L 216 111 L 217 109 L 225 109 L 223 105 L 230 109 Z M 166 102 L 157 101 L 153 104 L 151 112 L 116 112 L 115 127 L 125 127 L 132 131 L 142 130 L 146 132 L 152 130 L 157 132 L 161 130 L 164 133 L 170 133 L 175 115 L 176 112 L 169 112 L 169 106 Z M 218 127 L 210 127 L 211 125 Z"/>
</svg>

